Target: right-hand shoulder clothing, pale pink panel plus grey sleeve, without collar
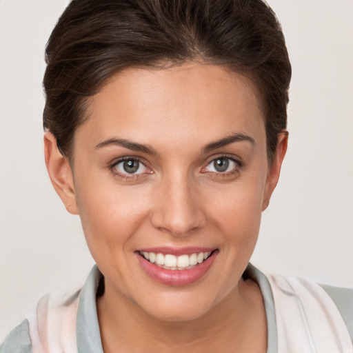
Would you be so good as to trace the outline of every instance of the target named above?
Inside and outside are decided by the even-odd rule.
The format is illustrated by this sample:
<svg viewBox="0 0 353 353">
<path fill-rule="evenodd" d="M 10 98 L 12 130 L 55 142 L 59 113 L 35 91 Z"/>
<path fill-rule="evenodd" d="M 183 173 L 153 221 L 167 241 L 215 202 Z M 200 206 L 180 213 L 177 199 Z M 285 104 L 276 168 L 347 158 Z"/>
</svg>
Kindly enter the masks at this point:
<svg viewBox="0 0 353 353">
<path fill-rule="evenodd" d="M 279 346 L 282 341 L 294 352 L 299 352 L 301 345 L 314 346 L 318 352 L 352 352 L 353 289 L 319 285 L 297 277 L 267 278 Z"/>
</svg>

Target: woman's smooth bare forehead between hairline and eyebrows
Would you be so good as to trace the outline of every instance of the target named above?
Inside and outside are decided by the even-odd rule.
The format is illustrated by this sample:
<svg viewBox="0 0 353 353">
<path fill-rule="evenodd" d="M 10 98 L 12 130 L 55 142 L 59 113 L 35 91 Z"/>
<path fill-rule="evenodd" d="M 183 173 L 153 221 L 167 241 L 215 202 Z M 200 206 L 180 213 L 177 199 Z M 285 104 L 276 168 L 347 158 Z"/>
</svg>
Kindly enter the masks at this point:
<svg viewBox="0 0 353 353">
<path fill-rule="evenodd" d="M 230 132 L 257 137 L 264 132 L 259 97 L 250 79 L 219 65 L 128 68 L 91 97 L 78 132 L 95 143 L 110 135 L 145 143 L 195 136 L 208 143 Z"/>
</svg>

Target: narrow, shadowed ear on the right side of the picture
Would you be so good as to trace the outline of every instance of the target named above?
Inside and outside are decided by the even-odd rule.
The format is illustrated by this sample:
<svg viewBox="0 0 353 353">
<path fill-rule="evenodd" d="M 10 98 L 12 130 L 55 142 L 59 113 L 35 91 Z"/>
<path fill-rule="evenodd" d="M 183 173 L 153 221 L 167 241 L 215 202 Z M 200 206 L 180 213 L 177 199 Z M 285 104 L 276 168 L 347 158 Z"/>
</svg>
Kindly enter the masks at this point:
<svg viewBox="0 0 353 353">
<path fill-rule="evenodd" d="M 268 177 L 266 179 L 265 190 L 263 192 L 263 211 L 268 208 L 272 192 L 274 191 L 274 188 L 276 188 L 277 182 L 279 181 L 279 174 L 281 172 L 281 166 L 285 157 L 285 152 L 287 152 L 287 146 L 288 131 L 283 130 L 279 134 L 276 151 L 274 152 L 272 163 L 269 165 L 268 168 Z"/>
</svg>

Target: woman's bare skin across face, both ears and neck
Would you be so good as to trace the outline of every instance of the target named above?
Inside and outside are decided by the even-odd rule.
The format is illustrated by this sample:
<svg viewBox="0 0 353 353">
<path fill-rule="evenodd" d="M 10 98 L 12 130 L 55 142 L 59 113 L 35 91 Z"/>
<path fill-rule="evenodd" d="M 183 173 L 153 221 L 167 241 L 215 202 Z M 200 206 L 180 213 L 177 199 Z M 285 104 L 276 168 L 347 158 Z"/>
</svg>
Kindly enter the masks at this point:
<svg viewBox="0 0 353 353">
<path fill-rule="evenodd" d="M 241 275 L 287 135 L 269 164 L 259 97 L 249 79 L 217 65 L 129 68 L 90 99 L 72 163 L 46 133 L 54 188 L 81 217 L 105 278 L 97 299 L 105 353 L 266 352 L 261 292 Z M 165 283 L 141 265 L 162 271 L 140 252 L 157 247 L 212 256 L 197 265 L 201 275 L 182 271 L 188 283 Z"/>
</svg>

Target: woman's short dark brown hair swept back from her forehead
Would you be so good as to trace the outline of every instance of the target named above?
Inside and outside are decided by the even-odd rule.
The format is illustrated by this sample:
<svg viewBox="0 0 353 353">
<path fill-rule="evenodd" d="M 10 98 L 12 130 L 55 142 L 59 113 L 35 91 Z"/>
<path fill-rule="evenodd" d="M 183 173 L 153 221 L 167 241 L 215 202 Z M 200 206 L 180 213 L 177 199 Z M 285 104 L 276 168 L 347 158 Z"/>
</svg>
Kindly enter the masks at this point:
<svg viewBox="0 0 353 353">
<path fill-rule="evenodd" d="M 201 59 L 256 83 L 272 160 L 287 125 L 291 66 L 281 25 L 261 0 L 73 0 L 46 46 L 43 126 L 70 159 L 85 102 L 131 66 Z"/>
</svg>

